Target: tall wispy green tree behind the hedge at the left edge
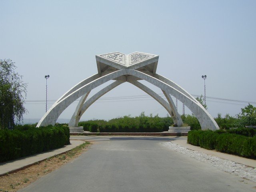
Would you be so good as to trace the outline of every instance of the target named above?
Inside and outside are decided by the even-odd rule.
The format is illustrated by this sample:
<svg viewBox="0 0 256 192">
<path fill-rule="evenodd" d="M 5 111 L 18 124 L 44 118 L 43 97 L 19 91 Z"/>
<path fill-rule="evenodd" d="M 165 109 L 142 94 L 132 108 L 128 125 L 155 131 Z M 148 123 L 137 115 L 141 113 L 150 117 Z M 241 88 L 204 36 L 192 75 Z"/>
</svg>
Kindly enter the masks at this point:
<svg viewBox="0 0 256 192">
<path fill-rule="evenodd" d="M 24 107 L 27 85 L 14 70 L 12 60 L 0 60 L 0 127 L 12 129 L 14 120 L 23 120 L 27 112 Z"/>
</svg>

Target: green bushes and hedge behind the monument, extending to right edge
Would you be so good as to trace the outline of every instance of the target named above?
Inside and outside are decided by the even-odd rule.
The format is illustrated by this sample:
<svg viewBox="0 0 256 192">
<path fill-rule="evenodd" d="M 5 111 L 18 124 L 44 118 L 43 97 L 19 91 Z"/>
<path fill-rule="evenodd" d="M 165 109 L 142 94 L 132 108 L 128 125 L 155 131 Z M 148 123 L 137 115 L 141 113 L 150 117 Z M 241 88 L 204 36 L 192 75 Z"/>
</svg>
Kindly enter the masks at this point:
<svg viewBox="0 0 256 192">
<path fill-rule="evenodd" d="M 200 130 L 201 126 L 194 115 L 182 115 L 183 126 L 190 126 L 191 130 Z M 233 127 L 244 127 L 246 125 L 256 125 L 256 107 L 248 104 L 241 108 L 241 113 L 236 117 L 226 114 L 224 117 L 219 113 L 216 118 L 220 129 L 228 130 Z M 170 116 L 159 117 L 146 116 L 142 112 L 139 116 L 132 117 L 131 115 L 113 118 L 111 120 L 88 120 L 79 122 L 79 126 L 83 126 L 85 131 L 90 132 L 162 132 L 167 131 L 169 126 L 173 125 L 173 120 Z"/>
</svg>

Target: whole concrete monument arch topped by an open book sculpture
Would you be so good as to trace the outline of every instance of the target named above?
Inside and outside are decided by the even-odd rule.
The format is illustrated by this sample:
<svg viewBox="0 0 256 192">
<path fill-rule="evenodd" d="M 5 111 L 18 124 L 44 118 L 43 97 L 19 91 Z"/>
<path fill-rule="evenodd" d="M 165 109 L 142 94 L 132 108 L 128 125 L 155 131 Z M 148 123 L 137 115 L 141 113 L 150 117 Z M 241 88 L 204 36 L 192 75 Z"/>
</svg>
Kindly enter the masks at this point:
<svg viewBox="0 0 256 192">
<path fill-rule="evenodd" d="M 171 95 L 184 103 L 193 112 L 196 118 L 198 118 L 202 130 L 219 129 L 212 116 L 193 96 L 178 86 L 178 84 L 156 74 L 158 58 L 158 55 L 142 52 L 134 52 L 128 55 L 120 52 L 96 55 L 98 73 L 82 80 L 61 96 L 46 114 L 44 114 L 38 122 L 37 127 L 47 126 L 49 124 L 54 125 L 60 114 L 76 99 L 81 97 L 69 122 L 70 127 L 74 130 L 79 130 L 78 128 L 76 129 L 78 122 L 89 106 L 110 90 L 124 82 L 129 82 L 159 102 L 170 114 L 176 126 L 181 127 L 183 122 L 174 106 Z M 92 89 L 110 80 L 115 81 L 86 100 Z M 140 83 L 140 80 L 146 80 L 160 88 L 168 102 L 150 88 Z"/>
</svg>

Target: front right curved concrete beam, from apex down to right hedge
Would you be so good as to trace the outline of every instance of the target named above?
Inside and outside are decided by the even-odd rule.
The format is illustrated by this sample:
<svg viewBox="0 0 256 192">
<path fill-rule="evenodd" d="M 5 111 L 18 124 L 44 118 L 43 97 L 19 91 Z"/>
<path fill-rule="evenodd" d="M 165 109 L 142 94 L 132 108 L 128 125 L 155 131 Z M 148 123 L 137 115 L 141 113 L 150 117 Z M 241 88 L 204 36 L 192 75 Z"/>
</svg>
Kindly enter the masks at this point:
<svg viewBox="0 0 256 192">
<path fill-rule="evenodd" d="M 217 130 L 217 129 L 219 129 L 218 124 L 215 122 L 215 120 L 212 118 L 212 116 L 208 113 L 208 111 L 206 111 L 206 109 L 201 104 L 196 102 L 195 99 L 188 97 L 186 94 L 183 94 L 176 88 L 173 88 L 172 86 L 158 80 L 157 78 L 154 78 L 150 75 L 144 74 L 137 70 L 127 69 L 127 74 L 136 76 L 138 78 L 142 78 L 142 79 L 146 80 L 147 82 L 150 82 L 151 84 L 164 90 L 165 92 L 173 95 L 178 100 L 180 100 L 182 103 L 184 103 L 184 105 L 186 105 L 192 111 L 193 114 L 195 114 L 196 118 L 198 119 L 198 121 L 201 125 L 202 130 L 206 130 L 206 129 Z M 179 88 L 179 89 L 182 89 L 182 88 Z"/>
</svg>

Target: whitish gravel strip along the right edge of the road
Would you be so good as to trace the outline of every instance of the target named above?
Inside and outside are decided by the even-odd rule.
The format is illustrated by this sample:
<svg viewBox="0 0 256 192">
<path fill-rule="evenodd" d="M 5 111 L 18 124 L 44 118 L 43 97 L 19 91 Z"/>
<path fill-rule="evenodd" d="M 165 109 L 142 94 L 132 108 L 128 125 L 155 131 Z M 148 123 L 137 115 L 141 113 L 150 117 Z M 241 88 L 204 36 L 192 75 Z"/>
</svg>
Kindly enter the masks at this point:
<svg viewBox="0 0 256 192">
<path fill-rule="evenodd" d="M 252 182 L 256 182 L 256 168 L 252 168 L 230 160 L 225 160 L 219 157 L 211 156 L 202 152 L 190 150 L 172 142 L 162 142 L 162 144 L 168 146 L 174 151 L 195 158 L 198 161 L 210 163 L 212 166 L 218 168 L 219 170 L 228 172 L 230 174 L 235 174 L 237 176 L 240 176 L 241 178 L 248 179 Z"/>
</svg>

